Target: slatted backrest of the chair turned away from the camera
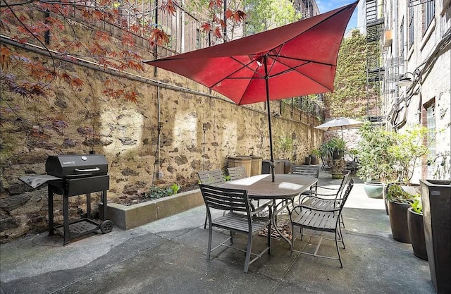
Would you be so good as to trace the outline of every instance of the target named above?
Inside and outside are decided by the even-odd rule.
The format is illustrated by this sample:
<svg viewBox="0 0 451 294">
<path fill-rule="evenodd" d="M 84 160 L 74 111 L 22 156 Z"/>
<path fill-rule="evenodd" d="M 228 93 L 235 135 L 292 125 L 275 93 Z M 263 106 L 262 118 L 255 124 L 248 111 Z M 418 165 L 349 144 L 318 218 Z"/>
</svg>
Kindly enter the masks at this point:
<svg viewBox="0 0 451 294">
<path fill-rule="evenodd" d="M 250 216 L 249 196 L 246 190 L 219 188 L 211 185 L 199 185 L 204 197 L 206 209 L 246 212 Z M 209 216 L 210 217 L 210 216 Z"/>
</svg>

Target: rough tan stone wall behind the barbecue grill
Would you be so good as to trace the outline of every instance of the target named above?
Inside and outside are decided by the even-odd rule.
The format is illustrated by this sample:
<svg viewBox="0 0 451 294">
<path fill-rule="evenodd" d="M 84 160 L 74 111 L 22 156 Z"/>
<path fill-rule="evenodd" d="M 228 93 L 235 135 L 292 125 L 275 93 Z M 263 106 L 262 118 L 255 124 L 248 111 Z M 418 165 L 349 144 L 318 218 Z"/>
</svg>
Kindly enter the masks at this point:
<svg viewBox="0 0 451 294">
<path fill-rule="evenodd" d="M 252 154 L 269 158 L 264 103 L 236 106 L 178 75 L 159 70 L 154 77 L 151 66 L 146 66 L 139 79 L 121 78 L 77 62 L 61 61 L 59 66 L 80 76 L 85 86 L 78 90 L 58 83 L 47 99 L 10 95 L 1 102 L 2 109 L 11 110 L 2 113 L 4 123 L 0 125 L 2 243 L 47 230 L 47 185 L 33 190 L 18 176 L 43 174 L 48 155 L 104 154 L 111 176 L 110 201 L 145 190 L 152 183 L 178 183 L 182 188 L 196 185 L 197 171 L 224 169 L 227 157 Z M 106 81 L 117 88 L 135 90 L 137 102 L 104 94 Z M 156 87 L 156 82 L 163 83 Z M 322 132 L 312 128 L 314 118 L 292 120 L 288 114 L 280 114 L 278 102 L 271 104 L 271 110 L 279 114 L 271 118 L 276 158 L 280 157 L 280 137 L 295 134 L 297 158 L 302 160 L 319 146 Z M 158 121 L 163 123 L 159 165 Z M 157 171 L 161 171 L 161 178 L 156 177 Z M 99 196 L 92 198 L 94 210 Z M 71 217 L 82 216 L 85 208 L 85 197 L 70 197 Z M 55 221 L 61 221 L 61 197 L 56 197 L 55 216 Z"/>
</svg>

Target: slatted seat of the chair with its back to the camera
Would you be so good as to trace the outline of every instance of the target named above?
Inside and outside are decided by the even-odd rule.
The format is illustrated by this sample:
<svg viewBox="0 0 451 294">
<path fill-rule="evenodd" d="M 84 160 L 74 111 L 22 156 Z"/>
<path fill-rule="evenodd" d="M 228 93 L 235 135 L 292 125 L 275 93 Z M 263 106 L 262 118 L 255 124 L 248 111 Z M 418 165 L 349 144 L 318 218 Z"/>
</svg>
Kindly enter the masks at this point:
<svg viewBox="0 0 451 294">
<path fill-rule="evenodd" d="M 252 217 L 252 235 L 266 228 L 270 221 L 268 217 Z M 214 219 L 213 224 L 218 228 L 224 228 L 228 231 L 249 233 L 249 224 L 247 223 L 247 216 L 245 214 L 229 212 L 224 216 Z"/>
</svg>

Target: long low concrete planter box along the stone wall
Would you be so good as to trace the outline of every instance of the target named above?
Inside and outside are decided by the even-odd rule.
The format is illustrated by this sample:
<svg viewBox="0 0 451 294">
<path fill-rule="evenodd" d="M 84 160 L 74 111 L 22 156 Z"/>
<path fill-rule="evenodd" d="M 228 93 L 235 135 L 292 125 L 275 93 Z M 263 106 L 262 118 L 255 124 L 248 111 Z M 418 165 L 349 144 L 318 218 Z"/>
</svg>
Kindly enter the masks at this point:
<svg viewBox="0 0 451 294">
<path fill-rule="evenodd" d="M 130 206 L 108 203 L 106 214 L 107 219 L 113 221 L 119 228 L 129 229 L 185 212 L 202 204 L 204 199 L 200 190 L 197 189 Z M 101 212 L 102 204 L 99 204 L 99 207 Z"/>
</svg>

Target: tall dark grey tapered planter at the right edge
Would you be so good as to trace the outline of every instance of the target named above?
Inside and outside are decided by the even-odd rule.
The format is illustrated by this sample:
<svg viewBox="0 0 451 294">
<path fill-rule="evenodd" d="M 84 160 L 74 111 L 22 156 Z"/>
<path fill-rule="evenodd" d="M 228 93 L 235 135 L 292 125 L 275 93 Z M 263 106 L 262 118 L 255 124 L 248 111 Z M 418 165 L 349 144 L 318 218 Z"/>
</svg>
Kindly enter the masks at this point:
<svg viewBox="0 0 451 294">
<path fill-rule="evenodd" d="M 437 293 L 451 293 L 450 180 L 420 180 L 424 238 Z"/>
</svg>

